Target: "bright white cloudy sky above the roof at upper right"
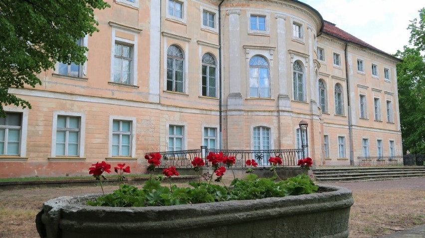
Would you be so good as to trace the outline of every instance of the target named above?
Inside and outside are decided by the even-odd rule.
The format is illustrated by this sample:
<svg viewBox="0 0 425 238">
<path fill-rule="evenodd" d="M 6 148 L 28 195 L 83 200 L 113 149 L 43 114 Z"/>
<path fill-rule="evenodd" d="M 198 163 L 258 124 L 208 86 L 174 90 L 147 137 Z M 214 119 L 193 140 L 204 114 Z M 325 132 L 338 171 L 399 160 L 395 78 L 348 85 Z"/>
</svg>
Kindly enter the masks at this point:
<svg viewBox="0 0 425 238">
<path fill-rule="evenodd" d="M 394 54 L 409 44 L 410 20 L 419 18 L 423 0 L 301 0 L 323 19 L 357 38 Z"/>
</svg>

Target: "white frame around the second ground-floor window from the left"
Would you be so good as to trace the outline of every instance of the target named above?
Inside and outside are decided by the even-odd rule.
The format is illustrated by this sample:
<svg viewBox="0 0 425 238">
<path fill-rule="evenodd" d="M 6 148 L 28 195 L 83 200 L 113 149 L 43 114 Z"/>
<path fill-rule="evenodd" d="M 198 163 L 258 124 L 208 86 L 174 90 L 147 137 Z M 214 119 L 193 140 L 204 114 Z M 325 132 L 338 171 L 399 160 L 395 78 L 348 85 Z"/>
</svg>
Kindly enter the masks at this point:
<svg viewBox="0 0 425 238">
<path fill-rule="evenodd" d="M 78 141 L 78 155 L 77 156 L 56 156 L 56 132 L 57 132 L 57 117 L 79 117 L 80 118 L 80 137 Z M 65 112 L 65 111 L 53 111 L 53 121 L 52 121 L 52 147 L 51 147 L 51 157 L 79 157 L 84 158 L 84 145 L 85 145 L 85 125 L 86 125 L 86 116 L 83 113 L 76 112 Z"/>
</svg>

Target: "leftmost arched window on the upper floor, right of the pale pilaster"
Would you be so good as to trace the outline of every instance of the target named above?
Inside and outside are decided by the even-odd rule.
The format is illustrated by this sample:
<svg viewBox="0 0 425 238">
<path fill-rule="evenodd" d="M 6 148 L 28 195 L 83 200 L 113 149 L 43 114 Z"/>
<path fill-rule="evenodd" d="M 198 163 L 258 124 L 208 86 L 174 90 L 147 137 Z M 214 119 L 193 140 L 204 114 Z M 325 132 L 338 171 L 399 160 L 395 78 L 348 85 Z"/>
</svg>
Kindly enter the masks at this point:
<svg viewBox="0 0 425 238">
<path fill-rule="evenodd" d="M 167 50 L 167 90 L 183 93 L 184 89 L 183 51 L 176 45 L 170 45 Z"/>
</svg>

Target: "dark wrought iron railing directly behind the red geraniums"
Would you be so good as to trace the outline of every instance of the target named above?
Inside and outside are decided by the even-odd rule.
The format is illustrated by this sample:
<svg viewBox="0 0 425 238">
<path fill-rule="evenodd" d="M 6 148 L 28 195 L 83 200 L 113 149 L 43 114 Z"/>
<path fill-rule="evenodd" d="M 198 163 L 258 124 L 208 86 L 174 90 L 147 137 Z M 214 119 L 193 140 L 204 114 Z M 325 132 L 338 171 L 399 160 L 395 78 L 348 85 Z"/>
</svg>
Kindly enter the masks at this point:
<svg viewBox="0 0 425 238">
<path fill-rule="evenodd" d="M 302 149 L 272 149 L 272 150 L 222 150 L 222 149 L 193 149 L 193 150 L 179 150 L 179 151 L 166 151 L 159 152 L 162 155 L 160 167 L 192 167 L 192 160 L 195 157 L 200 157 L 205 160 L 207 166 L 211 163 L 207 161 L 207 155 L 210 152 L 223 152 L 226 156 L 234 156 L 236 159 L 233 168 L 245 167 L 246 160 L 254 159 L 258 163 L 258 167 L 268 167 L 270 157 L 280 157 L 284 166 L 296 166 Z M 147 153 L 150 154 L 150 153 Z"/>
</svg>

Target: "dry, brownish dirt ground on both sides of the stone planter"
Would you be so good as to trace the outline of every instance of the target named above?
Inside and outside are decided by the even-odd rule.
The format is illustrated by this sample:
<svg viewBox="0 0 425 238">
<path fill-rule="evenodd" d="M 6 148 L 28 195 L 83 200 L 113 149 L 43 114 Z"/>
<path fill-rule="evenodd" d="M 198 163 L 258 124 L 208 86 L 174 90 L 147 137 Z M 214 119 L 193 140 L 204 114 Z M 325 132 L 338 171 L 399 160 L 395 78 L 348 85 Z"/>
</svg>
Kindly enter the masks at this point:
<svg viewBox="0 0 425 238">
<path fill-rule="evenodd" d="M 425 224 L 425 178 L 332 185 L 353 191 L 350 238 L 371 238 Z M 115 189 L 104 187 L 105 193 Z M 99 192 L 97 186 L 0 190 L 0 238 L 37 238 L 34 221 L 43 202 Z"/>
</svg>

